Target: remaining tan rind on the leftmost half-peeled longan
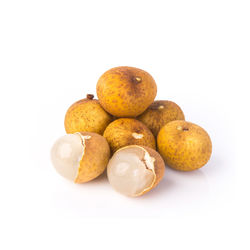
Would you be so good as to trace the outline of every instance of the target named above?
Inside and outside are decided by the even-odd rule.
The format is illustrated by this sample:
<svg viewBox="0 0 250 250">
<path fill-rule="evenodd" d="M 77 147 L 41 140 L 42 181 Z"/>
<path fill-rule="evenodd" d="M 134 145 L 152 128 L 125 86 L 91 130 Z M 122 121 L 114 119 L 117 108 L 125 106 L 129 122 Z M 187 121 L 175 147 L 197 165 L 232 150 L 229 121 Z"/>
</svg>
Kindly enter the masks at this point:
<svg viewBox="0 0 250 250">
<path fill-rule="evenodd" d="M 82 132 L 85 139 L 84 155 L 80 161 L 75 183 L 88 182 L 101 175 L 108 165 L 110 148 L 106 139 L 96 133 Z"/>
</svg>

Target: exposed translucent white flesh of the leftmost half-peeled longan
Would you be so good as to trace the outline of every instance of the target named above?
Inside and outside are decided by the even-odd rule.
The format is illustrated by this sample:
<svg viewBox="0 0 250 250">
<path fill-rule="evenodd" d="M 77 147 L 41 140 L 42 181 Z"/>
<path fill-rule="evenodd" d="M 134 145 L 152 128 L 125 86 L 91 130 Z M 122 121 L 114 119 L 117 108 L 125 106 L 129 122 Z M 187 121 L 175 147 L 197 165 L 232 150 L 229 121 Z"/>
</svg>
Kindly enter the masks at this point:
<svg viewBox="0 0 250 250">
<path fill-rule="evenodd" d="M 84 154 L 83 140 L 79 134 L 67 134 L 60 137 L 51 149 L 51 161 L 57 172 L 74 181 L 79 163 Z"/>
</svg>

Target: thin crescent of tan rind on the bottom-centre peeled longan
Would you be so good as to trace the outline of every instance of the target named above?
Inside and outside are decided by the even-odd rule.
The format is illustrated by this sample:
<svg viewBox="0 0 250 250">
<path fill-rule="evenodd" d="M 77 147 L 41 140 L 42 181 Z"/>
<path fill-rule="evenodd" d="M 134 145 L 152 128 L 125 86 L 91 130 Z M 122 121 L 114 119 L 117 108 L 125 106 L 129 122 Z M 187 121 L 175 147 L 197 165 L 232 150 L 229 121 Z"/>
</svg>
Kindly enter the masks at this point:
<svg viewBox="0 0 250 250">
<path fill-rule="evenodd" d="M 143 195 L 152 190 L 153 188 L 155 188 L 162 180 L 165 173 L 165 163 L 160 154 L 156 152 L 154 149 L 146 146 L 141 146 L 141 147 L 143 147 L 149 153 L 149 155 L 155 159 L 154 161 L 155 181 L 150 189 L 146 189 L 140 194 Z"/>
</svg>

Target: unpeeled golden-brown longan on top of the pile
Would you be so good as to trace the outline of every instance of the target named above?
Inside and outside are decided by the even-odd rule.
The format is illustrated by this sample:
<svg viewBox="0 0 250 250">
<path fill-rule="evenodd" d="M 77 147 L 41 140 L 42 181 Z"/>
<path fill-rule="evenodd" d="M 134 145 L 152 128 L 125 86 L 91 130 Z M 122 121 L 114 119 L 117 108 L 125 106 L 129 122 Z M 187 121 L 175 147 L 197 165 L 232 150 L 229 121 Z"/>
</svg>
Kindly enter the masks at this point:
<svg viewBox="0 0 250 250">
<path fill-rule="evenodd" d="M 116 117 L 136 117 L 154 101 L 157 87 L 153 77 L 133 67 L 105 72 L 96 86 L 103 108 Z"/>
</svg>

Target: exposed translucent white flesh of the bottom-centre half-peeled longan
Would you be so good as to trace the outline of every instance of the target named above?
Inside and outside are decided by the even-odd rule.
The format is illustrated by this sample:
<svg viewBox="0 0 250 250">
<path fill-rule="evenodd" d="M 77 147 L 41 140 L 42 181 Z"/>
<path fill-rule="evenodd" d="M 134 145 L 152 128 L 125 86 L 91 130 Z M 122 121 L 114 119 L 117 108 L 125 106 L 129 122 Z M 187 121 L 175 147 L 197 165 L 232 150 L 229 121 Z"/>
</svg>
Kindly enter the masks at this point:
<svg viewBox="0 0 250 250">
<path fill-rule="evenodd" d="M 148 155 L 149 156 L 149 155 Z M 150 158 L 150 156 L 149 156 Z M 145 162 L 145 151 L 138 147 L 130 147 L 116 152 L 108 164 L 108 179 L 118 192 L 136 196 L 150 187 L 154 181 L 152 168 L 154 158 Z"/>
</svg>

